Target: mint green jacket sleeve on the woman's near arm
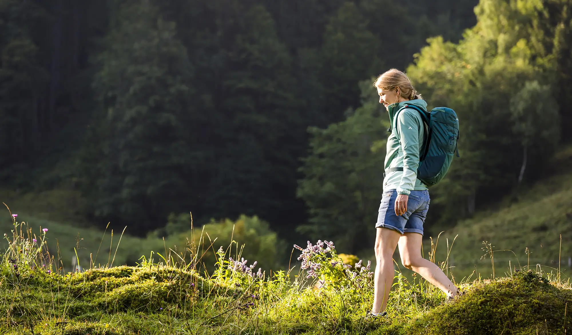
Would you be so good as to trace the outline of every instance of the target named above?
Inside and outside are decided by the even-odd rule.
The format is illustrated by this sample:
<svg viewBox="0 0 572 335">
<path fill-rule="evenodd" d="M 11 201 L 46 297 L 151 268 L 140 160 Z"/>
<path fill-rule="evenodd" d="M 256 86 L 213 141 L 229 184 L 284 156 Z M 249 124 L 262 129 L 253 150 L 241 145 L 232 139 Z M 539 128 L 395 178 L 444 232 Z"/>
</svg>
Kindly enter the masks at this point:
<svg viewBox="0 0 572 335">
<path fill-rule="evenodd" d="M 403 110 L 397 120 L 399 143 L 403 152 L 403 175 L 397 188 L 398 194 L 409 195 L 415 187 L 419 168 L 419 124 L 416 111 Z"/>
</svg>

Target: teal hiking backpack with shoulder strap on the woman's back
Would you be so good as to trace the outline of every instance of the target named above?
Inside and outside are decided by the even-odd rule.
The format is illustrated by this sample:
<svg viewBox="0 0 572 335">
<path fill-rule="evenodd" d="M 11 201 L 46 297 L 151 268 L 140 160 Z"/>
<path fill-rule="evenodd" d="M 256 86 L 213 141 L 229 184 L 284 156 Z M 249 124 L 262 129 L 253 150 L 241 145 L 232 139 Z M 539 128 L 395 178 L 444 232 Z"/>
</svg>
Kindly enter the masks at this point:
<svg viewBox="0 0 572 335">
<path fill-rule="evenodd" d="M 457 118 L 454 110 L 447 107 L 436 107 L 428 113 L 417 106 L 405 105 L 395 114 L 394 122 L 396 122 L 399 112 L 405 108 L 418 111 L 423 123 L 428 127 L 425 132 L 424 148 L 419 155 L 417 179 L 430 187 L 439 183 L 447 174 L 455 152 L 459 157 L 457 150 L 459 118 Z M 401 169 L 403 171 L 403 168 Z"/>
</svg>

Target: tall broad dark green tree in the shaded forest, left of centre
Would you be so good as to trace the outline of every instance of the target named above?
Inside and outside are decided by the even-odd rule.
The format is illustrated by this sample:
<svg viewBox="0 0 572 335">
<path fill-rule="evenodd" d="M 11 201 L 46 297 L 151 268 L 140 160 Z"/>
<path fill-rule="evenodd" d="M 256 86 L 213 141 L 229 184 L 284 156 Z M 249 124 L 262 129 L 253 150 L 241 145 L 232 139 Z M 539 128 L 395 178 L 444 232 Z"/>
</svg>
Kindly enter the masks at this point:
<svg viewBox="0 0 572 335">
<path fill-rule="evenodd" d="M 192 185 L 200 122 L 186 86 L 192 67 L 174 23 L 154 6 L 124 5 L 112 24 L 94 78 L 101 111 L 92 134 L 103 136 L 88 144 L 99 155 L 86 157 L 92 172 L 86 192 L 97 199 L 97 216 L 136 219 L 149 229 L 150 221 L 185 203 Z"/>
</svg>

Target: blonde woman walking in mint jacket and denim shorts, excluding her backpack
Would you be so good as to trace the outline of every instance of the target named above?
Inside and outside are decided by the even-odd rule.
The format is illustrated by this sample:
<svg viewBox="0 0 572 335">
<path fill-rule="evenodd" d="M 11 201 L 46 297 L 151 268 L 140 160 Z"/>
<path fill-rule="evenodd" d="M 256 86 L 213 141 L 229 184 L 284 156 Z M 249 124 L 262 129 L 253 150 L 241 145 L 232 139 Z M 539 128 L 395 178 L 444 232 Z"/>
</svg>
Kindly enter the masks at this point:
<svg viewBox="0 0 572 335">
<path fill-rule="evenodd" d="M 427 111 L 427 103 L 415 91 L 409 78 L 395 68 L 380 75 L 374 86 L 379 103 L 389 112 L 392 124 L 387 139 L 383 196 L 375 225 L 375 258 L 373 316 L 385 316 L 387 300 L 394 279 L 393 254 L 399 246 L 404 267 L 423 276 L 428 282 L 447 294 L 456 296 L 458 289 L 443 271 L 423 258 L 421 240 L 423 222 L 429 209 L 427 186 L 417 179 L 419 152 L 423 148 L 425 126 L 419 111 L 405 108 L 397 120 L 395 114 L 406 105 Z M 393 127 L 395 125 L 395 127 Z"/>
</svg>

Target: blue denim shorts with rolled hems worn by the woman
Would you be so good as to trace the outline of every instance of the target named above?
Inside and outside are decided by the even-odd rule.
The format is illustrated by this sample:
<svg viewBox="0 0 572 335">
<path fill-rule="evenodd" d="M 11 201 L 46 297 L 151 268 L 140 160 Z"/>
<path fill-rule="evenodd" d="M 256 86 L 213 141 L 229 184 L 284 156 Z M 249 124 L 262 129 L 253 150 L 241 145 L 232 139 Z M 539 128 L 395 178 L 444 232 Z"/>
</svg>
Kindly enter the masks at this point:
<svg viewBox="0 0 572 335">
<path fill-rule="evenodd" d="M 395 199 L 397 190 L 389 189 L 383 192 L 382 204 L 379 206 L 378 223 L 375 228 L 389 228 L 404 233 L 419 233 L 423 235 L 423 223 L 429 209 L 429 191 L 411 191 L 407 200 L 407 211 L 400 216 L 395 215 Z"/>
</svg>

